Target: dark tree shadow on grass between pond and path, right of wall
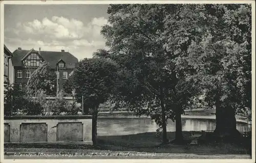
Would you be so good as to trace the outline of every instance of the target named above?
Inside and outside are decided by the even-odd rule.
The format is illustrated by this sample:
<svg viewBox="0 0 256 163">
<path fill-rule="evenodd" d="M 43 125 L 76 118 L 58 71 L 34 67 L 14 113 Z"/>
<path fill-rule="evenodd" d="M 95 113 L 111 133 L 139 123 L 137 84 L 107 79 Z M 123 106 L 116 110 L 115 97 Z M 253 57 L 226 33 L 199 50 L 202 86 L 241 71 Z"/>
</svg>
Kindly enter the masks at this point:
<svg viewBox="0 0 256 163">
<path fill-rule="evenodd" d="M 196 133 L 196 132 L 194 132 Z M 200 132 L 198 132 L 200 133 Z M 203 143 L 196 146 L 162 145 L 162 137 L 156 137 L 156 132 L 145 132 L 130 135 L 99 136 L 98 146 L 101 149 L 131 150 L 138 152 L 157 153 L 194 153 L 194 154 L 248 154 L 242 145 L 227 143 Z M 183 131 L 184 139 L 189 139 L 190 132 Z M 175 132 L 167 132 L 169 140 L 175 139 Z"/>
</svg>

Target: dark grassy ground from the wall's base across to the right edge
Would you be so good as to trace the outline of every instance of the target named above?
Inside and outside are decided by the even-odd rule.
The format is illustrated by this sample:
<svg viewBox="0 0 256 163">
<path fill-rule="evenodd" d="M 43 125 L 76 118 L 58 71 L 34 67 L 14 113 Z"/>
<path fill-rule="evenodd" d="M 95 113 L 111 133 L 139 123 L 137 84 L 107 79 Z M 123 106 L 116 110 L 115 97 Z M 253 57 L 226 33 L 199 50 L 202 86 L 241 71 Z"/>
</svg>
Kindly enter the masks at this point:
<svg viewBox="0 0 256 163">
<path fill-rule="evenodd" d="M 188 145 L 161 145 L 161 137 L 155 137 L 156 132 L 146 132 L 131 135 L 115 135 L 98 137 L 98 145 L 16 145 L 5 144 L 5 152 L 17 150 L 29 150 L 29 148 L 47 149 L 76 149 L 81 151 L 136 151 L 136 152 L 156 152 L 156 153 L 194 153 L 194 154 L 248 154 L 248 149 L 244 145 L 208 143 L 197 146 Z M 183 132 L 185 138 L 189 138 L 189 132 Z M 175 132 L 167 133 L 168 139 L 175 138 Z M 18 152 L 18 151 L 17 151 Z M 67 152 L 67 151 L 66 151 Z"/>
</svg>

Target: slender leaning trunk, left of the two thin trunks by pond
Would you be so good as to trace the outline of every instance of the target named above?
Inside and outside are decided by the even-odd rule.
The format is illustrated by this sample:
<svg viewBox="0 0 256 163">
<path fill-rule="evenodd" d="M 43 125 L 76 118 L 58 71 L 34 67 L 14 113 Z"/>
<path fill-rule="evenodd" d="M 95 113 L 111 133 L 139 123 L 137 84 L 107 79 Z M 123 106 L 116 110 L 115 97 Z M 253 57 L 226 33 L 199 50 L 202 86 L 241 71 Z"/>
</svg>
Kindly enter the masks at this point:
<svg viewBox="0 0 256 163">
<path fill-rule="evenodd" d="M 163 123 L 163 144 L 168 143 L 167 139 L 167 130 L 166 130 L 166 115 L 165 115 L 165 106 L 164 106 L 164 96 L 162 89 L 160 88 L 160 101 L 161 101 L 161 112 L 162 112 L 162 123 Z"/>
</svg>

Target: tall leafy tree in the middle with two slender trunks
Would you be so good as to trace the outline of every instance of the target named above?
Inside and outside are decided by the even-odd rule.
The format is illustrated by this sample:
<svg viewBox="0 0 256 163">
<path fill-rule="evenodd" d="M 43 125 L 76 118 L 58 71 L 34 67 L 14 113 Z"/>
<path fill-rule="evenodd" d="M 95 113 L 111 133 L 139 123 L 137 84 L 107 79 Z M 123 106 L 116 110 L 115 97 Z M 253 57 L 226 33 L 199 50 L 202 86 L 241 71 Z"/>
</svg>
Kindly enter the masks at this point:
<svg viewBox="0 0 256 163">
<path fill-rule="evenodd" d="M 163 130 L 163 143 L 168 142 L 168 119 L 176 120 L 176 139 L 183 141 L 181 114 L 198 93 L 188 76 L 190 67 L 184 66 L 187 53 L 181 54 L 181 47 L 175 51 L 164 47 L 168 43 L 162 38 L 166 18 L 178 11 L 179 5 L 110 5 L 109 24 L 101 30 L 110 50 L 96 53 L 120 66 L 121 82 L 114 97 L 117 107 L 155 119 Z"/>
</svg>

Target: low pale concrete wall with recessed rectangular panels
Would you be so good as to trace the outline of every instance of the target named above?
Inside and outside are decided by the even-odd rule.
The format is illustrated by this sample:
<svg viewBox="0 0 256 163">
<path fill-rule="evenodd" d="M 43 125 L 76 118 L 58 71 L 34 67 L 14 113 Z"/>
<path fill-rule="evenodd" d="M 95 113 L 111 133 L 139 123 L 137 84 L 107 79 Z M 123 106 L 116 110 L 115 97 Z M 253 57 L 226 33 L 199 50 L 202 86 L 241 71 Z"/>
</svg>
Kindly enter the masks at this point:
<svg viewBox="0 0 256 163">
<path fill-rule="evenodd" d="M 92 144 L 92 116 L 4 118 L 5 143 Z"/>
</svg>

